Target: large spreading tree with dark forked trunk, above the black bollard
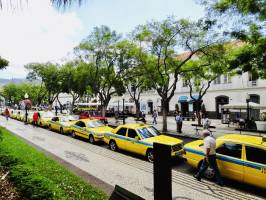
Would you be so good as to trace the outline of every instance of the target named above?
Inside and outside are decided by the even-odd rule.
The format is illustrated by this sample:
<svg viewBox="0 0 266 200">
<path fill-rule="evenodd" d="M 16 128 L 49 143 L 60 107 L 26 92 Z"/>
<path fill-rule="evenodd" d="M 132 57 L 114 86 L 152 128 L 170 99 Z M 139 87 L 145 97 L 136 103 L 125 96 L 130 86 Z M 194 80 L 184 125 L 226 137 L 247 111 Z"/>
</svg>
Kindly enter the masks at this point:
<svg viewBox="0 0 266 200">
<path fill-rule="evenodd" d="M 147 59 L 150 64 L 144 68 L 143 75 L 147 76 L 151 87 L 161 97 L 163 131 L 167 131 L 168 107 L 177 81 L 187 71 L 183 66 L 194 54 L 210 45 L 204 38 L 207 31 L 208 25 L 204 21 L 176 21 L 174 18 L 151 22 L 135 31 L 135 40 L 142 51 L 151 53 Z M 187 52 L 177 56 L 180 49 Z"/>
</svg>

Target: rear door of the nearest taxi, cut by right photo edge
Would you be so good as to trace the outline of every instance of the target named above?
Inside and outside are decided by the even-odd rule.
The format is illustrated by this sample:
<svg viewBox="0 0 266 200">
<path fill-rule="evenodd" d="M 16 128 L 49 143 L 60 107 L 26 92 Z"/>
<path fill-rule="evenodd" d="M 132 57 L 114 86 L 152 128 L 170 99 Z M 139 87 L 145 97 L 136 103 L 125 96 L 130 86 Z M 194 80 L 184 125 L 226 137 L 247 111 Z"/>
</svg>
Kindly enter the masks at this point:
<svg viewBox="0 0 266 200">
<path fill-rule="evenodd" d="M 266 150 L 245 145 L 244 182 L 266 188 Z"/>
</svg>

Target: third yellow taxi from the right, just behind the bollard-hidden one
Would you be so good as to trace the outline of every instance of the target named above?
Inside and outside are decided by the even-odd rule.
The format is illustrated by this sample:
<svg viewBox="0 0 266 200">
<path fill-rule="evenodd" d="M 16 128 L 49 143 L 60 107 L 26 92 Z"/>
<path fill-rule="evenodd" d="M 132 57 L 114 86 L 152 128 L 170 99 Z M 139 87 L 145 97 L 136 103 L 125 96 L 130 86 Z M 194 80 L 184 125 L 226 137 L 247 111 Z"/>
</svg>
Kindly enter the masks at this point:
<svg viewBox="0 0 266 200">
<path fill-rule="evenodd" d="M 71 126 L 72 137 L 80 136 L 89 139 L 89 142 L 103 141 L 106 132 L 113 131 L 113 128 L 104 125 L 97 119 L 80 119 Z"/>
</svg>

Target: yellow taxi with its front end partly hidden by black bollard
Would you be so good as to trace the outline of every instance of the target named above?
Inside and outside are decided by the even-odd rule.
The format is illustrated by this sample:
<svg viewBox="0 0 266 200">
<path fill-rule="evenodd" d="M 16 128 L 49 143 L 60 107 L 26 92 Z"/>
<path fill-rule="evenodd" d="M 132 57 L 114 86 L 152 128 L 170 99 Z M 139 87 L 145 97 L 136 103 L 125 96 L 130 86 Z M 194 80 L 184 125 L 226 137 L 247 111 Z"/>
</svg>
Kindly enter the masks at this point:
<svg viewBox="0 0 266 200">
<path fill-rule="evenodd" d="M 183 141 L 162 135 L 156 128 L 144 124 L 126 124 L 118 126 L 112 133 L 105 134 L 105 142 L 111 150 L 122 149 L 146 156 L 153 162 L 153 143 L 162 143 L 172 147 L 171 156 L 183 153 Z"/>
</svg>

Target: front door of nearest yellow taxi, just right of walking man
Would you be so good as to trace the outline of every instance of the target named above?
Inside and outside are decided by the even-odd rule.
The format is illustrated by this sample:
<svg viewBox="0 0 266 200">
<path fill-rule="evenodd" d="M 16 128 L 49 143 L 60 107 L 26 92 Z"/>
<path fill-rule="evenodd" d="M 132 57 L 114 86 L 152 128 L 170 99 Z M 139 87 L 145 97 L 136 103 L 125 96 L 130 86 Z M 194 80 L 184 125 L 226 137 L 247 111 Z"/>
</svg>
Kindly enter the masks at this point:
<svg viewBox="0 0 266 200">
<path fill-rule="evenodd" d="M 224 142 L 216 149 L 217 164 L 222 176 L 243 182 L 244 162 L 242 144 Z"/>
</svg>

